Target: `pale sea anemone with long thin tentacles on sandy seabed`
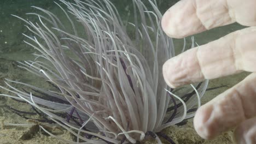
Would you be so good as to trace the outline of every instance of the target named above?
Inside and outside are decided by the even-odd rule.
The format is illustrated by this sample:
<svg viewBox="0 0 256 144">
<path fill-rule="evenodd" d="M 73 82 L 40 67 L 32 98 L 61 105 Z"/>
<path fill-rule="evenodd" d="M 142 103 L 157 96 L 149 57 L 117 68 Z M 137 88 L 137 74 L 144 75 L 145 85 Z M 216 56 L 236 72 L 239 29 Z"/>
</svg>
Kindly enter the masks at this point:
<svg viewBox="0 0 256 144">
<path fill-rule="evenodd" d="M 56 3 L 71 30 L 42 8 L 33 7 L 44 14 L 30 13 L 39 23 L 14 15 L 33 34 L 24 34 L 25 43 L 38 51 L 33 62 L 19 62 L 19 67 L 52 83 L 56 91 L 7 80 L 9 88 L 1 88 L 13 94 L 1 95 L 26 101 L 77 137 L 76 142 L 63 140 L 41 127 L 67 143 L 136 143 L 146 135 L 161 143 L 162 129 L 194 116 L 208 81 L 167 87 L 161 66 L 174 56 L 174 46 L 160 27 L 156 1 L 132 0 L 133 23 L 121 20 L 109 0 L 60 2 L 67 7 Z"/>
</svg>

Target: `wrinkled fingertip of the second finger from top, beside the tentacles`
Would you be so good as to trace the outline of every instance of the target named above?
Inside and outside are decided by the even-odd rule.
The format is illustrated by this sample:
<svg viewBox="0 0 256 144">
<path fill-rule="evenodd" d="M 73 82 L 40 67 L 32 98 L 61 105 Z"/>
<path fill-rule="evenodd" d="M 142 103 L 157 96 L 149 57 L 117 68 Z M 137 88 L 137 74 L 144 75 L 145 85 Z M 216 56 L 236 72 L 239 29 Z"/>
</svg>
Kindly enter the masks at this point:
<svg viewBox="0 0 256 144">
<path fill-rule="evenodd" d="M 196 51 L 197 49 L 190 49 L 165 62 L 162 74 L 168 86 L 176 88 L 204 80 Z"/>
</svg>

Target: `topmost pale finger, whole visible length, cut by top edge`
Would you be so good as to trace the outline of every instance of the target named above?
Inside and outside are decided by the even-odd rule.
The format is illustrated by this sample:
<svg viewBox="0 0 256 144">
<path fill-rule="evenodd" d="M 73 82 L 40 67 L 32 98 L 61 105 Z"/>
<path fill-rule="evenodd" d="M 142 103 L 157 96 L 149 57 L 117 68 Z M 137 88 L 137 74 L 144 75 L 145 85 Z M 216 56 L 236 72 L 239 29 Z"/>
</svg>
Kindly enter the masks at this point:
<svg viewBox="0 0 256 144">
<path fill-rule="evenodd" d="M 182 0 L 162 17 L 162 28 L 172 38 L 183 38 L 238 22 L 256 26 L 255 0 Z"/>
</svg>

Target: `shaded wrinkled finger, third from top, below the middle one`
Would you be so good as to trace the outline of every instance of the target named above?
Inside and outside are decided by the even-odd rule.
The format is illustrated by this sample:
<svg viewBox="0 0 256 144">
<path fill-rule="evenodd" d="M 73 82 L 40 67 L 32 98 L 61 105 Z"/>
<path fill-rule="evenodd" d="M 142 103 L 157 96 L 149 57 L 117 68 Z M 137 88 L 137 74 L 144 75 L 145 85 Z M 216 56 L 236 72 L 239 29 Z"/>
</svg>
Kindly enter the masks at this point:
<svg viewBox="0 0 256 144">
<path fill-rule="evenodd" d="M 194 127 L 203 139 L 213 139 L 224 131 L 256 115 L 256 73 L 201 106 Z"/>
</svg>

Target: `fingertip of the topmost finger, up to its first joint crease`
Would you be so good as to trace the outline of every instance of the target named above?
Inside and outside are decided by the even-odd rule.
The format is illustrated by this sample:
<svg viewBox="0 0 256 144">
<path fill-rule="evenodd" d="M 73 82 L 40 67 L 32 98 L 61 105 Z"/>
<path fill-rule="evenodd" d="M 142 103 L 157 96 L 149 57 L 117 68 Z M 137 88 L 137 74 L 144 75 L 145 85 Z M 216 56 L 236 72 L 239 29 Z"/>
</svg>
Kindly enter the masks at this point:
<svg viewBox="0 0 256 144">
<path fill-rule="evenodd" d="M 184 38 L 205 31 L 194 7 L 195 1 L 182 0 L 166 11 L 161 20 L 163 31 L 171 38 Z"/>
</svg>

